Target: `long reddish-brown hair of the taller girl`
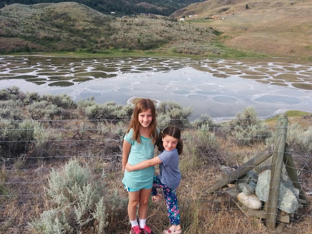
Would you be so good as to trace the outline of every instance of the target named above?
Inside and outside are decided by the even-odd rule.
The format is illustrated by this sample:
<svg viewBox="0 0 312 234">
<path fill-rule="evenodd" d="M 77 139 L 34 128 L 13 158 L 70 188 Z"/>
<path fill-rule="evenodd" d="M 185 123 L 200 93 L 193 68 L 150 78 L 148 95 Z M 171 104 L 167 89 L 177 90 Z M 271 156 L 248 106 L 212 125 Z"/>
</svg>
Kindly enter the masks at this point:
<svg viewBox="0 0 312 234">
<path fill-rule="evenodd" d="M 140 122 L 138 121 L 138 115 L 142 112 L 145 112 L 147 110 L 151 110 L 152 112 L 152 122 L 149 125 L 150 132 L 149 136 L 152 138 L 153 144 L 155 143 L 157 139 L 157 131 L 156 131 L 156 109 L 153 101 L 150 99 L 143 98 L 139 100 L 136 104 L 135 110 L 132 115 L 132 119 L 130 122 L 129 129 L 127 130 L 127 133 L 129 133 L 130 129 L 133 129 L 133 139 L 136 140 L 138 143 L 141 143 L 140 139 Z"/>
</svg>

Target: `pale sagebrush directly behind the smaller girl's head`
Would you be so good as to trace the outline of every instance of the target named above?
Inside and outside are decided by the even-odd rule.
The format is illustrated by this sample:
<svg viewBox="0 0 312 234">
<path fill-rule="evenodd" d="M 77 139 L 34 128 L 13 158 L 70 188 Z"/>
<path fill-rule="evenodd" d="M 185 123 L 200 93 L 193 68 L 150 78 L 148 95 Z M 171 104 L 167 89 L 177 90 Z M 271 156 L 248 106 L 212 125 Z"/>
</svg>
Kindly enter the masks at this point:
<svg viewBox="0 0 312 234">
<path fill-rule="evenodd" d="M 188 127 L 189 116 L 192 115 L 192 107 L 183 107 L 175 101 L 164 100 L 156 107 L 157 125 L 159 128 L 167 126 Z"/>
</svg>

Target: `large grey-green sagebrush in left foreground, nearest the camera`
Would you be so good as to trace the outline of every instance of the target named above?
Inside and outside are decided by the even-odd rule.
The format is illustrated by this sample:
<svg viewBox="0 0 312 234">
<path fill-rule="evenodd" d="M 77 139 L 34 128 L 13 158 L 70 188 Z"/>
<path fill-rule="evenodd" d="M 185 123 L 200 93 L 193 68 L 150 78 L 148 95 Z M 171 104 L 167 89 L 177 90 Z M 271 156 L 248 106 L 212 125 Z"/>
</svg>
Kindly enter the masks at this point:
<svg viewBox="0 0 312 234">
<path fill-rule="evenodd" d="M 95 178 L 91 168 L 79 165 L 77 160 L 70 160 L 59 171 L 52 169 L 46 191 L 55 207 L 44 211 L 28 227 L 38 234 L 76 234 L 86 230 L 105 234 L 108 214 L 103 198 L 104 176 Z"/>
</svg>

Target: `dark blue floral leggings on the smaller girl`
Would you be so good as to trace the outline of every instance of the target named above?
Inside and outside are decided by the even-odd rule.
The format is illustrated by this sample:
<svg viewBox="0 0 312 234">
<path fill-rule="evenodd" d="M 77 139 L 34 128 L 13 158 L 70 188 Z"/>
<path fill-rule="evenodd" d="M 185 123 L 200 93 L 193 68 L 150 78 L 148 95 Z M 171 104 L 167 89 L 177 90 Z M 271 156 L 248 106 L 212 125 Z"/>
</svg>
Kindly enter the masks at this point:
<svg viewBox="0 0 312 234">
<path fill-rule="evenodd" d="M 176 189 L 171 189 L 167 185 L 161 183 L 159 176 L 154 176 L 153 188 L 151 195 L 154 196 L 157 194 L 156 188 L 163 189 L 168 217 L 172 225 L 180 224 L 180 211 L 177 204 L 177 197 L 176 197 Z"/>
</svg>

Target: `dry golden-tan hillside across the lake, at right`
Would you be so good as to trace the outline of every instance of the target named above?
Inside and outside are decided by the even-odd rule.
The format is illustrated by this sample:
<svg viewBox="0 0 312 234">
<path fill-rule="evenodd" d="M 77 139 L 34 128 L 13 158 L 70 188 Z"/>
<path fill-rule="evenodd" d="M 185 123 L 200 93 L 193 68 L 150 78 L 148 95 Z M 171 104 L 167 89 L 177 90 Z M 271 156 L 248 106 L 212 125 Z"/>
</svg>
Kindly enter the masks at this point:
<svg viewBox="0 0 312 234">
<path fill-rule="evenodd" d="M 234 49 L 312 59 L 311 15 L 310 0 L 209 0 L 172 16 L 186 16 L 186 22 L 213 27 L 222 32 L 220 41 Z M 212 16 L 219 19 L 207 20 Z"/>
</svg>

